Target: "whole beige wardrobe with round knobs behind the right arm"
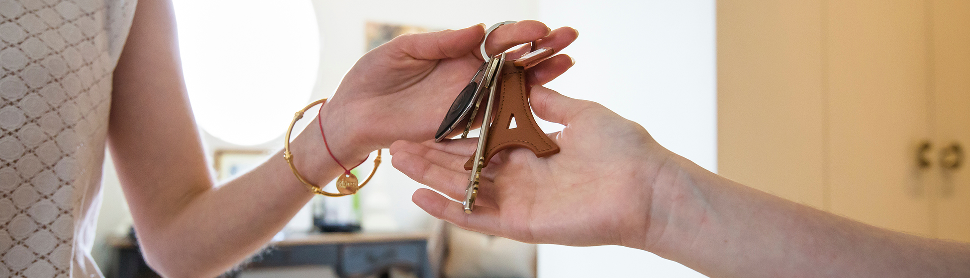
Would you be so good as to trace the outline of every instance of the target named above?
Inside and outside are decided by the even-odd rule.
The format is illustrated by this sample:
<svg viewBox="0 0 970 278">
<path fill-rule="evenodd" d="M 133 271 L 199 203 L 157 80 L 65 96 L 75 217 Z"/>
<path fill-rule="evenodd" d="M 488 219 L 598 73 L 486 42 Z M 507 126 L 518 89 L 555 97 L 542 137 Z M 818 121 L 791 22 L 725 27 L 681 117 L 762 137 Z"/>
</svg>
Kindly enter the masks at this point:
<svg viewBox="0 0 970 278">
<path fill-rule="evenodd" d="M 721 174 L 970 241 L 970 1 L 718 1 Z"/>
</svg>

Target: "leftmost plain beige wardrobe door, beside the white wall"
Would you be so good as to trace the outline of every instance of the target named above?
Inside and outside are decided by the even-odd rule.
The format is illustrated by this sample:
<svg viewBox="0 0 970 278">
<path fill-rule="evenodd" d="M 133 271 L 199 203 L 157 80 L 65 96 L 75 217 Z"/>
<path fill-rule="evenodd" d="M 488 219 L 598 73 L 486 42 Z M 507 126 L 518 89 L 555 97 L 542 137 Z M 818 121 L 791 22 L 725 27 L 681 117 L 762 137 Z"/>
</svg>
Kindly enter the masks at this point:
<svg viewBox="0 0 970 278">
<path fill-rule="evenodd" d="M 824 207 L 822 1 L 718 1 L 718 172 Z"/>
</svg>

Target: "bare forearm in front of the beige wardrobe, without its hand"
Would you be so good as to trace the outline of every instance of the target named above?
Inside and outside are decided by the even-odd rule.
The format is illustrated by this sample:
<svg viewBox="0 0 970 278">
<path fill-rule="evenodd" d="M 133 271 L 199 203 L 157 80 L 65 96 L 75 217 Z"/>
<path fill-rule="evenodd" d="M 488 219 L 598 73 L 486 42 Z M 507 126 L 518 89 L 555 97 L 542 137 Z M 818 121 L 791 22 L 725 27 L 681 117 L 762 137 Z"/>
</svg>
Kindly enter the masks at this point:
<svg viewBox="0 0 970 278">
<path fill-rule="evenodd" d="M 875 228 L 676 160 L 654 185 L 647 250 L 712 277 L 970 275 L 968 244 Z"/>
</svg>

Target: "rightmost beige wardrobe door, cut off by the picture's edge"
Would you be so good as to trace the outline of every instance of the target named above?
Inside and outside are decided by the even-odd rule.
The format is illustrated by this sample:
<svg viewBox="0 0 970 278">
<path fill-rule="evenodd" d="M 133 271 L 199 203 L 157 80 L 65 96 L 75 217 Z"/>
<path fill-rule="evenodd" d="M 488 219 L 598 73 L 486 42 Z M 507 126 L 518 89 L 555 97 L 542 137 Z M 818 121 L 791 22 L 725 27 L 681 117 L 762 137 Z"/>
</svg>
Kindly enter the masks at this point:
<svg viewBox="0 0 970 278">
<path fill-rule="evenodd" d="M 937 149 L 970 144 L 970 1 L 934 0 L 932 12 L 932 91 Z M 934 155 L 934 158 L 936 155 Z M 970 170 L 934 161 L 940 173 L 936 221 L 943 238 L 970 241 Z"/>
</svg>

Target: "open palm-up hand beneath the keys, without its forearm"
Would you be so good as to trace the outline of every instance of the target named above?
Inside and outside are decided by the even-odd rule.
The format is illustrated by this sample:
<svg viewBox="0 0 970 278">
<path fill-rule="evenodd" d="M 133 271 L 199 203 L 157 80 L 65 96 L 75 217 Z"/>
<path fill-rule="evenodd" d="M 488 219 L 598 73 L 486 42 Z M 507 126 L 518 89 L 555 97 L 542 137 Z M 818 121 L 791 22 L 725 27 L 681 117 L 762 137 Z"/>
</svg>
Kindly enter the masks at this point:
<svg viewBox="0 0 970 278">
<path fill-rule="evenodd" d="M 597 103 L 534 86 L 539 117 L 566 125 L 550 135 L 561 152 L 535 158 L 503 151 L 483 171 L 475 210 L 427 189 L 413 201 L 463 229 L 535 243 L 621 244 L 644 248 L 655 184 L 676 180 L 676 157 L 640 125 Z M 466 161 L 477 139 L 397 141 L 394 167 L 455 200 L 464 200 Z M 673 173 L 673 174 L 668 174 Z"/>
</svg>

